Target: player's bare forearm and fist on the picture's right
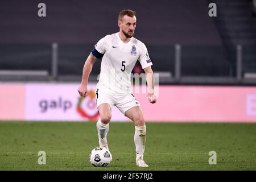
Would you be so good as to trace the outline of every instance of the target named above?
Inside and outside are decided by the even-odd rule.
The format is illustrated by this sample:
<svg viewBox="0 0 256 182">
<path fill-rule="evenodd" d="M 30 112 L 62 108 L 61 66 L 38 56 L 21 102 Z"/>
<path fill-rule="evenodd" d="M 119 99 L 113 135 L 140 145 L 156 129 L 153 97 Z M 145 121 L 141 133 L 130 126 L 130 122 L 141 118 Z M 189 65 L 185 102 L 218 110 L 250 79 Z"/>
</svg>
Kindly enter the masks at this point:
<svg viewBox="0 0 256 182">
<path fill-rule="evenodd" d="M 154 104 L 156 102 L 156 96 L 154 94 L 154 86 L 155 86 L 155 77 L 154 72 L 151 67 L 144 68 L 144 72 L 146 73 L 146 81 L 147 81 L 147 98 L 150 103 Z"/>
</svg>

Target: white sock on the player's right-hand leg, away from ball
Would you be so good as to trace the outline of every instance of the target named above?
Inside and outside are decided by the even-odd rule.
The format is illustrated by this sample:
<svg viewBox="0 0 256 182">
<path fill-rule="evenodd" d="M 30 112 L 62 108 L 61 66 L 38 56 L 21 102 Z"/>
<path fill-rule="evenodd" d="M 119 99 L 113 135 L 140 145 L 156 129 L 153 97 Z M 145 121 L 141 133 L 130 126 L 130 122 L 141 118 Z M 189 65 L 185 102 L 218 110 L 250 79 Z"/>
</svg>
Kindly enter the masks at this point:
<svg viewBox="0 0 256 182">
<path fill-rule="evenodd" d="M 146 144 L 146 125 L 135 126 L 134 143 L 136 147 L 136 161 L 143 159 Z"/>
</svg>

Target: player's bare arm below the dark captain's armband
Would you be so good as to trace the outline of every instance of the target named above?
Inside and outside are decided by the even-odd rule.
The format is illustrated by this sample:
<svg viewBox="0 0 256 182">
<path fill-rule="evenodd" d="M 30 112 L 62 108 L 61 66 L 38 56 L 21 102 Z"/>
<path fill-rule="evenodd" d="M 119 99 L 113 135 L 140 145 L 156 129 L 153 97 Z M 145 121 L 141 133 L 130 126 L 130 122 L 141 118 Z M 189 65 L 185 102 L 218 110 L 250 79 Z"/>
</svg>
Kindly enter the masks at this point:
<svg viewBox="0 0 256 182">
<path fill-rule="evenodd" d="M 87 57 L 84 68 L 82 69 L 82 81 L 79 89 L 77 90 L 81 97 L 86 97 L 87 92 L 87 84 L 90 72 L 92 72 L 93 64 L 97 61 L 97 57 L 95 57 L 92 53 Z"/>
</svg>

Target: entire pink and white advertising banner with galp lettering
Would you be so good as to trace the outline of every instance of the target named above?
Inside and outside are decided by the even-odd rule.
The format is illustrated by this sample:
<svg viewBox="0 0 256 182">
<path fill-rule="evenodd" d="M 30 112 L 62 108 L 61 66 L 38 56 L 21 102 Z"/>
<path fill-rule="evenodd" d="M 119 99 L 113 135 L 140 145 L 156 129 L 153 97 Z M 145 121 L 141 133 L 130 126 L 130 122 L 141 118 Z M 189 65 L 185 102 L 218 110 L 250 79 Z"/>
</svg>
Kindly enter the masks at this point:
<svg viewBox="0 0 256 182">
<path fill-rule="evenodd" d="M 96 121 L 96 84 L 88 97 L 79 84 L 0 84 L 0 120 Z M 147 122 L 256 122 L 254 86 L 159 86 L 158 101 L 147 100 L 146 86 L 133 88 Z M 112 121 L 129 121 L 115 106 Z"/>
</svg>

